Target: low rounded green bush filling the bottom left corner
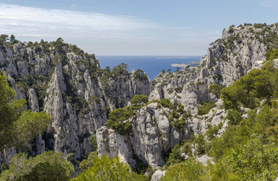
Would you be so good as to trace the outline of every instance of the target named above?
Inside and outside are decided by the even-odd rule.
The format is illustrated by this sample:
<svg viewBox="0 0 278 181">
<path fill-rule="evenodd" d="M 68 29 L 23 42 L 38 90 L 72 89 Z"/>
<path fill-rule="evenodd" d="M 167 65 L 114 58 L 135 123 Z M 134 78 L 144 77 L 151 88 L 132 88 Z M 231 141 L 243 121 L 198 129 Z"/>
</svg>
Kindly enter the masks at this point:
<svg viewBox="0 0 278 181">
<path fill-rule="evenodd" d="M 25 154 L 17 154 L 0 180 L 70 180 L 73 171 L 72 164 L 60 153 L 43 152 L 28 159 Z"/>
</svg>

